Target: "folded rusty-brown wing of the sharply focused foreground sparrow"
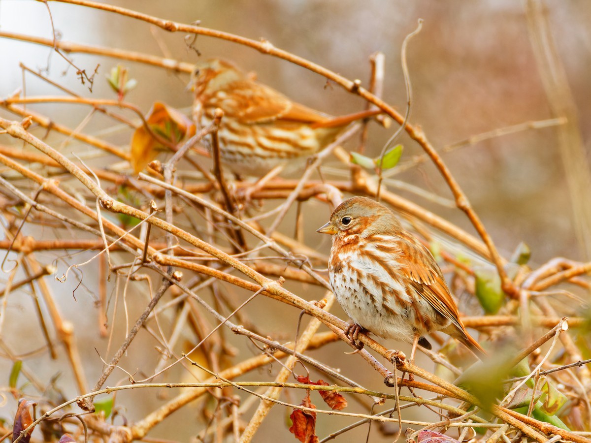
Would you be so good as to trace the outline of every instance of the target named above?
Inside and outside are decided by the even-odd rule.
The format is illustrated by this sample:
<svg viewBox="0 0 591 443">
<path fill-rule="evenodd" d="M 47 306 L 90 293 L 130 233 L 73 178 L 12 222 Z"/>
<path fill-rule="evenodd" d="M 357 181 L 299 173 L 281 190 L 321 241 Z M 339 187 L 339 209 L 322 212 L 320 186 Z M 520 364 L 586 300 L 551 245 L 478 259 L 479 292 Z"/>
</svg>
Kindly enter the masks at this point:
<svg viewBox="0 0 591 443">
<path fill-rule="evenodd" d="M 404 265 L 400 272 L 413 282 L 417 293 L 424 297 L 436 311 L 449 318 L 460 331 L 463 331 L 456 302 L 430 250 L 407 233 L 402 232 L 400 236 L 404 240 L 401 242 L 404 259 L 400 260 Z"/>
</svg>

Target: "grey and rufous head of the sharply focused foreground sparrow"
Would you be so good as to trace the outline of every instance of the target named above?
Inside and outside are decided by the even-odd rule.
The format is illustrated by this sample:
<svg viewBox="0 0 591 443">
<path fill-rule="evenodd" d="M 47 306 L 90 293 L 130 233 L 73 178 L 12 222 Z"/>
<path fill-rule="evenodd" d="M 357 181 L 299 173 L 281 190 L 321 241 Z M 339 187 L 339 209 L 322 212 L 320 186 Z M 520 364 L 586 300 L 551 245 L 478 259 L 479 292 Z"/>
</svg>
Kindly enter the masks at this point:
<svg viewBox="0 0 591 443">
<path fill-rule="evenodd" d="M 367 197 L 353 197 L 336 207 L 328 223 L 316 232 L 339 236 L 392 235 L 402 226 L 388 207 Z"/>
</svg>

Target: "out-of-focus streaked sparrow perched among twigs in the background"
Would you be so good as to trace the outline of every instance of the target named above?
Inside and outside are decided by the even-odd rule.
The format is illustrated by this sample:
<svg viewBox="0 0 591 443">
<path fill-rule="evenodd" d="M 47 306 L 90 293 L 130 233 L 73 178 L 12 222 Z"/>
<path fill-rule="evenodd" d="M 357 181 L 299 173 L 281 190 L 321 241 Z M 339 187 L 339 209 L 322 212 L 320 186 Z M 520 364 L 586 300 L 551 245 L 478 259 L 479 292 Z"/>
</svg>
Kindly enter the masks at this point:
<svg viewBox="0 0 591 443">
<path fill-rule="evenodd" d="M 227 61 L 214 59 L 193 71 L 194 116 L 202 126 L 216 108 L 224 115 L 219 128 L 222 163 L 237 174 L 261 176 L 293 159 L 316 154 L 356 119 L 375 110 L 332 117 L 281 95 Z"/>
</svg>

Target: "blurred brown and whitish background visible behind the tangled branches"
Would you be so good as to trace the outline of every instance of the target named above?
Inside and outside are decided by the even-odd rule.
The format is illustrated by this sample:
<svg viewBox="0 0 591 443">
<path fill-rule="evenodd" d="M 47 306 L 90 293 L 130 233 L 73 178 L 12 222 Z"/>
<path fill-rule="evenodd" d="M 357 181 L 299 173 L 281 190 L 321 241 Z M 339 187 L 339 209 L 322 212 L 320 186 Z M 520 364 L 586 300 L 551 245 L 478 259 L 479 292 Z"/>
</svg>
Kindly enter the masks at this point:
<svg viewBox="0 0 591 443">
<path fill-rule="evenodd" d="M 479 133 L 553 117 L 532 51 L 522 2 L 145 0 L 109 3 L 164 19 L 184 23 L 199 21 L 203 27 L 253 39 L 262 38 L 278 48 L 307 58 L 349 79 L 361 79 L 365 86 L 370 73 L 369 57 L 372 53 L 381 51 L 386 60 L 384 99 L 397 106 L 402 115 L 406 109 L 407 97 L 401 70 L 401 44 L 405 36 L 417 27 L 417 20 L 423 18 L 423 30 L 408 45 L 408 68 L 414 96 L 410 122 L 421 126 L 437 149 Z M 591 4 L 579 1 L 547 1 L 546 4 L 551 31 L 576 103 L 580 132 L 586 149 L 585 165 L 588 168 L 587 140 L 591 132 Z M 64 41 L 122 48 L 191 63 L 200 58 L 228 58 L 246 71 L 256 71 L 260 82 L 271 85 L 311 108 L 332 115 L 342 115 L 361 110 L 365 106 L 359 97 L 345 92 L 339 86 L 327 84 L 326 79 L 317 74 L 238 44 L 199 36 L 194 44 L 200 53 L 197 54 L 187 47 L 185 36 L 181 33 L 168 33 L 151 28 L 144 22 L 75 5 L 48 2 L 47 6 L 51 10 L 54 27 Z M 35 1 L 0 0 L 0 31 L 51 38 L 47 6 Z M 192 97 L 186 90 L 188 76 L 173 74 L 157 67 L 73 54 L 74 63 L 89 72 L 100 63 L 95 86 L 90 94 L 76 80 L 72 67 L 68 67 L 47 47 L 0 38 L 0 54 L 0 100 L 18 89 L 24 89 L 19 63 L 33 70 L 44 70 L 50 79 L 66 84 L 81 95 L 115 99 L 115 93 L 106 83 L 105 75 L 117 63 L 123 63 L 129 68 L 131 76 L 138 80 L 138 87 L 128 94 L 126 100 L 135 103 L 144 112 L 156 100 L 175 108 L 187 108 L 191 105 Z M 25 85 L 26 93 L 30 96 L 57 93 L 57 90 L 52 90 L 46 83 L 30 75 L 27 76 Z M 76 127 L 86 115 L 75 112 L 75 108 L 66 105 L 35 105 L 31 109 L 40 110 L 70 127 Z M 0 115 L 10 118 L 7 117 L 9 113 L 4 110 L 0 110 Z M 125 147 L 129 143 L 129 132 L 112 131 L 112 126 L 110 120 L 99 116 L 86 126 L 85 132 L 103 136 Z M 393 125 L 386 130 L 375 124 L 371 125 L 368 155 L 377 155 L 396 127 Z M 3 139 L 2 142 L 7 143 L 7 140 Z M 403 164 L 423 153 L 420 146 L 404 134 L 400 136 L 399 142 L 405 149 Z M 90 149 L 86 146 L 78 148 L 82 151 Z M 466 192 L 502 255 L 509 257 L 519 242 L 525 242 L 531 247 L 533 263 L 541 264 L 556 256 L 576 260 L 585 258 L 585 247 L 574 233 L 573 193 L 567 185 L 569 171 L 565 169 L 558 149 L 556 126 L 487 139 L 444 154 L 443 159 Z M 473 233 L 465 215 L 450 207 L 451 193 L 437 170 L 428 162 L 395 174 L 392 178 L 416 185 L 433 196 L 443 198 L 444 203 L 448 204 L 441 205 L 438 203 L 441 199 L 424 198 L 407 189 L 397 190 L 395 186 L 391 187 Z M 589 205 L 591 202 L 584 204 Z M 310 207 L 313 205 L 310 203 Z M 320 208 L 320 205 L 317 207 Z M 322 211 L 326 211 L 324 207 Z M 329 216 L 327 211 L 322 211 L 315 211 L 313 218 L 306 217 L 305 235 L 309 245 L 319 244 L 319 249 L 327 253 L 329 239 L 319 239 L 314 232 Z M 284 228 L 289 232 L 290 224 L 286 222 Z M 92 254 L 83 255 L 80 261 L 90 256 Z M 96 284 L 93 279 L 96 277 L 92 275 L 92 270 L 86 272 L 85 285 L 92 292 L 93 284 Z M 59 285 L 56 282 L 50 284 Z M 54 290 L 64 294 L 64 316 L 72 317 L 76 330 L 81 331 L 80 339 L 84 339 L 85 343 L 94 343 L 98 340 L 96 331 L 84 327 L 85 319 L 76 318 L 76 312 L 86 312 L 86 309 L 92 311 L 92 297 L 79 297 L 74 302 L 70 296 L 71 288 L 69 291 L 64 291 L 63 288 L 64 285 L 59 286 L 59 289 L 56 286 Z M 145 305 L 145 294 L 130 297 L 132 300 L 137 297 L 138 309 Z M 306 298 L 320 297 L 321 291 L 311 291 Z M 15 305 L 12 310 L 16 315 L 12 317 L 12 323 L 5 324 L 5 328 L 28 318 L 24 302 L 22 305 L 18 300 L 13 299 L 13 302 Z M 252 307 L 254 312 L 257 302 L 261 302 L 261 309 L 269 306 L 261 300 L 255 301 Z M 131 305 L 133 306 L 133 302 Z M 131 318 L 135 318 L 133 308 L 131 312 Z M 285 317 L 282 317 L 281 312 L 289 315 L 288 331 L 285 331 Z M 340 308 L 335 307 L 333 312 L 345 318 Z M 256 314 L 253 315 L 252 320 L 256 322 Z M 261 320 L 268 317 L 261 315 Z M 95 323 L 94 318 L 89 321 Z M 275 337 L 288 339 L 296 321 L 297 314 L 281 305 L 278 306 L 278 315 L 271 319 L 271 324 L 266 329 L 273 331 Z M 153 345 L 149 338 L 145 338 L 145 341 L 145 346 L 151 352 Z M 26 337 L 23 343 L 28 343 Z M 33 346 L 33 343 L 28 344 Z M 95 361 L 93 346 L 95 345 L 87 348 L 85 346 L 82 352 L 86 358 Z M 252 352 L 252 347 L 245 349 L 244 344 L 240 346 L 243 351 Z M 389 346 L 396 345 L 392 342 Z M 142 361 L 142 351 L 138 347 L 130 350 L 130 359 L 135 359 L 133 361 L 137 364 Z M 330 358 L 327 354 L 329 351 Z M 317 357 L 329 359 L 332 366 L 346 367 L 354 357 L 344 355 L 344 351 L 348 349 L 343 344 L 338 344 L 319 351 L 320 355 Z M 5 369 L 9 370 L 8 363 L 0 366 L 0 373 L 7 373 Z M 48 366 L 46 373 L 50 374 L 58 369 Z M 274 367 L 273 373 L 277 370 Z M 260 373 L 252 374 L 252 377 L 260 379 L 265 372 L 266 369 L 261 370 Z M 368 388 L 382 389 L 379 377 L 367 372 L 366 379 L 361 374 L 352 375 Z M 89 380 L 94 381 L 98 373 L 90 370 Z M 66 398 L 72 395 L 75 392 L 66 388 Z M 125 394 L 128 399 L 138 395 L 150 396 L 148 392 Z M 299 403 L 300 400 L 289 398 L 288 395 L 288 401 Z M 141 418 L 154 406 L 150 402 L 131 400 L 128 404 L 134 404 L 134 410 L 128 409 L 125 412 L 130 420 Z M 11 401 L 0 409 L 0 414 L 8 419 L 14 415 L 14 407 L 14 402 Z M 273 429 L 272 426 L 264 426 L 255 441 L 267 441 L 272 435 L 281 435 L 285 437 L 285 441 L 293 438 L 287 435 L 285 418 L 289 412 L 285 411 L 285 408 L 275 407 L 272 412 L 274 416 L 268 421 L 275 421 L 277 427 Z M 176 414 L 178 417 L 166 422 L 167 426 L 177 424 L 174 428 L 177 434 L 170 434 L 171 428 L 160 431 L 157 428 L 154 435 L 187 441 L 195 433 L 191 429 L 191 422 L 183 420 L 191 419 L 191 414 L 194 412 L 181 411 Z M 415 418 L 421 418 L 421 413 L 418 412 Z M 342 418 L 333 421 L 320 417 L 317 425 L 319 435 L 325 435 L 348 423 L 349 421 Z M 178 426 L 180 424 L 186 427 Z M 279 434 L 275 434 L 276 432 Z M 366 429 L 350 435 L 351 438 L 363 438 L 365 432 Z M 388 441 L 387 437 L 378 434 L 375 438 L 375 441 L 382 441 L 381 438 Z"/>
</svg>

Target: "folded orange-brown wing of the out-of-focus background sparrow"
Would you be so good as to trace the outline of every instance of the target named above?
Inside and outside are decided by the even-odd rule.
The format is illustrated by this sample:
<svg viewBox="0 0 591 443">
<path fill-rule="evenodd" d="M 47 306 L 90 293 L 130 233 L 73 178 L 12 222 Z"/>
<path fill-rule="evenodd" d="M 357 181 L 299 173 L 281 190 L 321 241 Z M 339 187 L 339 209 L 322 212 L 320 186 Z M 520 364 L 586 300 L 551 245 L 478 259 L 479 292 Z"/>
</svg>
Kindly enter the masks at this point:
<svg viewBox="0 0 591 443">
<path fill-rule="evenodd" d="M 234 103 L 230 102 L 230 97 Z M 236 119 L 245 124 L 268 123 L 275 120 L 319 123 L 330 119 L 329 116 L 304 105 L 291 102 L 264 84 L 250 80 L 232 83 L 226 92 L 225 100 L 228 100 L 228 106 L 237 110 Z"/>
</svg>

